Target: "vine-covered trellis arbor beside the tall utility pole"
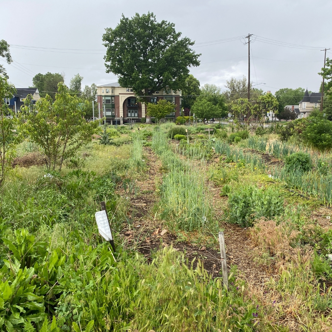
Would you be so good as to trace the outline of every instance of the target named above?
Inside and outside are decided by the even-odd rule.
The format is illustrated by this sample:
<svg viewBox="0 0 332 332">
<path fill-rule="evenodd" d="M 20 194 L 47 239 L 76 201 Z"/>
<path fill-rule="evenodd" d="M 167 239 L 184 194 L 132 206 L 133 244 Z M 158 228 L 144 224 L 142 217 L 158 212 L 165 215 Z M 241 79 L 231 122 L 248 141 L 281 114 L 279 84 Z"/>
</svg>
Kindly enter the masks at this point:
<svg viewBox="0 0 332 332">
<path fill-rule="evenodd" d="M 277 98 L 272 93 L 267 93 L 255 100 L 248 100 L 247 98 L 233 100 L 230 103 L 230 113 L 233 114 L 238 129 L 240 125 L 247 129 L 250 124 L 256 128 L 257 126 L 264 126 L 267 111 L 278 114 L 278 106 Z"/>
</svg>

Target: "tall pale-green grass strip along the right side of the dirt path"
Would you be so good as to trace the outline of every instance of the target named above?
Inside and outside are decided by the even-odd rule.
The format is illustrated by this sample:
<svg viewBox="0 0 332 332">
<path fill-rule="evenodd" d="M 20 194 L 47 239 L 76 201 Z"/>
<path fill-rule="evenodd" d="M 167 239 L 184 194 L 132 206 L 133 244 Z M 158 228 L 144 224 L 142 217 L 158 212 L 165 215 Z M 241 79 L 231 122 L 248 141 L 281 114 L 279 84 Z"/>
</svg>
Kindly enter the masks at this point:
<svg viewBox="0 0 332 332">
<path fill-rule="evenodd" d="M 183 161 L 174 154 L 167 142 L 162 131 L 154 131 L 152 147 L 168 171 L 161 186 L 161 217 L 172 230 L 206 232 L 212 227 L 212 205 L 207 197 L 205 176 L 190 160 Z"/>
</svg>

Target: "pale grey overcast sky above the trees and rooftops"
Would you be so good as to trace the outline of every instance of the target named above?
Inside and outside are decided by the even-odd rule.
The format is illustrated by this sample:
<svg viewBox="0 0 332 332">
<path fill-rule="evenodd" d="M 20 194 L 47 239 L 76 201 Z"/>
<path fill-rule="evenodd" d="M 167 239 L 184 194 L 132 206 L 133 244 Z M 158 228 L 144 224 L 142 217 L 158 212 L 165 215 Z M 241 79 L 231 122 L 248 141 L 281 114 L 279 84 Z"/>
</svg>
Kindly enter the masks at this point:
<svg viewBox="0 0 332 332">
<path fill-rule="evenodd" d="M 332 1 L 326 0 L 0 0 L 0 8 L 0 40 L 12 45 L 14 60 L 12 65 L 0 63 L 18 88 L 31 86 L 35 74 L 47 71 L 64 72 L 67 84 L 77 73 L 84 77 L 83 86 L 115 82 L 116 76 L 105 72 L 102 35 L 105 28 L 116 27 L 122 13 L 132 17 L 150 11 L 158 21 L 175 23 L 176 31 L 196 41 L 194 49 L 202 53 L 201 65 L 191 73 L 201 85 L 214 83 L 222 89 L 232 76 L 248 75 L 243 37 L 249 33 L 253 34 L 251 81 L 273 93 L 285 87 L 318 91 L 317 72 L 324 61 L 320 48 L 332 48 Z M 229 38 L 235 39 L 202 44 Z M 327 56 L 332 57 L 332 50 Z"/>
</svg>

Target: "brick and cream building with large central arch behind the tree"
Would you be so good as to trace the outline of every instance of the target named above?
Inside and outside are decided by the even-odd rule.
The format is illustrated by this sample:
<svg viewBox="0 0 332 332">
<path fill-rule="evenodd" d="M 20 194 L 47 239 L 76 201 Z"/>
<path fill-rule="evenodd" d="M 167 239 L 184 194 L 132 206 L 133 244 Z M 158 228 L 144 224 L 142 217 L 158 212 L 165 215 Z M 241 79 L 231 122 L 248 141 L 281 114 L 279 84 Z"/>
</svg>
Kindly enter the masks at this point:
<svg viewBox="0 0 332 332">
<path fill-rule="evenodd" d="M 181 91 L 155 91 L 150 97 L 151 103 L 157 103 L 159 99 L 166 99 L 175 105 L 174 112 L 166 116 L 166 119 L 175 120 L 181 115 Z M 124 124 L 139 122 L 145 118 L 145 104 L 138 102 L 134 92 L 130 88 L 123 88 L 118 82 L 97 86 L 97 103 L 101 117 L 106 118 L 109 124 Z M 98 110 L 95 110 L 95 115 Z"/>
</svg>

